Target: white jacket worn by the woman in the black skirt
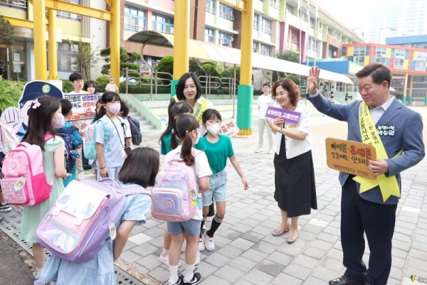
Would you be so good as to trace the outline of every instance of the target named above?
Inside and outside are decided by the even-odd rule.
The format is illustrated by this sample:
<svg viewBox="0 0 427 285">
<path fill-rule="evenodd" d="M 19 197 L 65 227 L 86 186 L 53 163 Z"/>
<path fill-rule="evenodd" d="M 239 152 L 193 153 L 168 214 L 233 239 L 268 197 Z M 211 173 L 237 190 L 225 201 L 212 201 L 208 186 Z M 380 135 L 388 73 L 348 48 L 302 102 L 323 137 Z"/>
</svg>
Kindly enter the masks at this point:
<svg viewBox="0 0 427 285">
<path fill-rule="evenodd" d="M 310 136 L 310 114 L 308 109 L 300 104 L 297 104 L 295 112 L 300 112 L 300 122 L 298 124 L 289 124 L 285 122 L 285 129 L 292 129 L 295 131 L 302 131 L 307 134 L 305 140 L 300 141 L 297 139 L 291 139 L 288 136 L 285 136 L 286 143 L 286 157 L 294 158 L 300 154 L 305 154 L 307 151 L 311 150 L 311 136 Z M 279 132 L 276 133 L 276 154 L 280 153 L 280 141 L 282 140 L 283 134 Z"/>
</svg>

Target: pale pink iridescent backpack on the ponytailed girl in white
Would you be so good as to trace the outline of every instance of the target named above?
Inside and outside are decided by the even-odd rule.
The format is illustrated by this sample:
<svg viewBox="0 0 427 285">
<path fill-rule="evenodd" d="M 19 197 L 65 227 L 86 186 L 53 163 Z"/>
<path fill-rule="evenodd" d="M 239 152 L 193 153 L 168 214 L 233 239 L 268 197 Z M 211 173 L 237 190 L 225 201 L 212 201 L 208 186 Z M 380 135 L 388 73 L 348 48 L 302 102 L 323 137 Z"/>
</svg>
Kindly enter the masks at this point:
<svg viewBox="0 0 427 285">
<path fill-rule="evenodd" d="M 152 189 L 152 216 L 167 222 L 190 220 L 201 198 L 194 167 L 187 166 L 181 158 L 174 158 L 165 161 L 162 171 L 161 181 Z"/>
</svg>

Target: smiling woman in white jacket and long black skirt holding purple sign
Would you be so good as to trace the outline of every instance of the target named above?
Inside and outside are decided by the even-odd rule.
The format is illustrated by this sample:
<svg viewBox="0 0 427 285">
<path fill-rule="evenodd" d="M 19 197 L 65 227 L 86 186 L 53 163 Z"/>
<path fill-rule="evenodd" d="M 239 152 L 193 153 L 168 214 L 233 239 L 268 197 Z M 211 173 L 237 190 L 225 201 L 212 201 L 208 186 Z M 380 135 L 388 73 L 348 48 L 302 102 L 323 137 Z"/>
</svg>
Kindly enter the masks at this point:
<svg viewBox="0 0 427 285">
<path fill-rule="evenodd" d="M 298 104 L 300 89 L 292 80 L 275 82 L 272 97 L 283 109 L 280 117 L 265 119 L 277 139 L 274 198 L 282 215 L 282 223 L 272 234 L 289 232 L 286 241 L 292 243 L 297 239 L 298 217 L 317 209 L 309 114 Z"/>
</svg>

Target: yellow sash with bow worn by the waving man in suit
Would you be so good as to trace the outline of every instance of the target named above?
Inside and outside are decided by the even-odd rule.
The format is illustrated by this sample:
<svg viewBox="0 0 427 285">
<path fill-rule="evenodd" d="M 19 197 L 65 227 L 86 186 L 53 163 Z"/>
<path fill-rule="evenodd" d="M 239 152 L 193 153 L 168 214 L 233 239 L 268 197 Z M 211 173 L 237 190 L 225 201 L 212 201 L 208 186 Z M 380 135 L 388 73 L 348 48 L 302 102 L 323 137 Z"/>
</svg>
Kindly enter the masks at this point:
<svg viewBox="0 0 427 285">
<path fill-rule="evenodd" d="M 363 143 L 375 147 L 376 158 L 389 158 L 389 156 L 387 156 L 386 149 L 384 149 L 384 144 L 379 137 L 378 131 L 376 130 L 374 121 L 372 120 L 369 107 L 364 102 L 359 104 L 359 127 Z M 401 153 L 402 151 L 400 151 L 399 154 L 396 154 L 395 157 L 400 156 Z M 379 185 L 384 202 L 386 202 L 391 195 L 400 197 L 399 183 L 397 183 L 396 176 L 386 177 L 383 173 L 376 176 L 376 179 L 355 176 L 353 180 L 360 183 L 360 193 L 364 193 Z"/>
</svg>

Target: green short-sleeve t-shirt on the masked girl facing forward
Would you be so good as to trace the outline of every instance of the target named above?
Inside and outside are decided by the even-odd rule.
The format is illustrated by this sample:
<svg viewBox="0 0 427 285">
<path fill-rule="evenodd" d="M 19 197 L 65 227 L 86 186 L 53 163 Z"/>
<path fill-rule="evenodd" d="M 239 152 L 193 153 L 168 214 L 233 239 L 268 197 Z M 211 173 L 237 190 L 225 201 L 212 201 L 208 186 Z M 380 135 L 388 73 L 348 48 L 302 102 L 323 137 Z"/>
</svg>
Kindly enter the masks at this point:
<svg viewBox="0 0 427 285">
<path fill-rule="evenodd" d="M 208 141 L 207 136 L 202 137 L 196 148 L 204 149 L 214 174 L 223 171 L 227 165 L 227 158 L 234 156 L 231 139 L 222 134 L 219 134 L 219 139 L 214 144 Z"/>
</svg>

